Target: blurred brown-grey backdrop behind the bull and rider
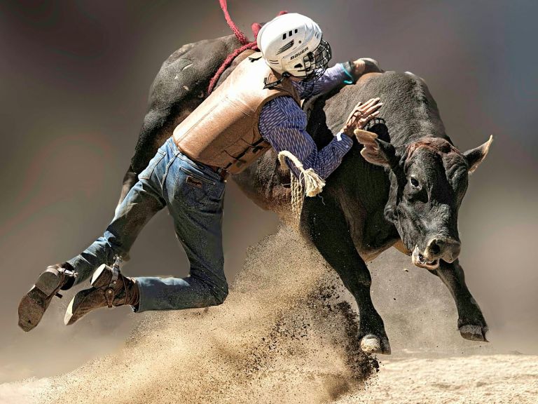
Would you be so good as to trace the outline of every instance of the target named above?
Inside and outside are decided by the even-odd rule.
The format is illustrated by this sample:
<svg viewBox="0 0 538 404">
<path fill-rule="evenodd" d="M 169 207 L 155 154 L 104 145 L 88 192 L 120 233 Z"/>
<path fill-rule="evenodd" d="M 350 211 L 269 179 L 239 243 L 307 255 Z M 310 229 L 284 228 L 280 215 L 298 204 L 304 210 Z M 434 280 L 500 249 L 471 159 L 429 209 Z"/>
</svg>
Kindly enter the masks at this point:
<svg viewBox="0 0 538 404">
<path fill-rule="evenodd" d="M 251 22 L 281 10 L 309 15 L 331 43 L 333 62 L 371 57 L 422 76 L 460 149 L 494 136 L 460 210 L 461 262 L 492 346 L 538 354 L 538 3 L 230 0 L 228 8 L 250 38 Z M 111 220 L 163 60 L 184 43 L 228 34 L 217 1 L 0 1 L 0 382 L 76 368 L 116 350 L 139 320 L 122 307 L 65 327 L 69 291 L 25 333 L 17 307 L 48 264 L 78 254 Z M 247 246 L 276 227 L 275 215 L 228 182 L 228 280 Z M 166 211 L 144 229 L 131 257 L 130 276 L 187 272 Z M 402 276 L 403 265 L 412 276 Z M 394 252 L 371 270 L 393 351 L 417 341 L 435 347 L 436 332 L 457 335 L 439 280 Z M 422 317 L 406 318 L 414 311 Z M 396 317 L 400 323 L 387 321 Z M 434 318 L 441 328 L 429 323 Z M 419 330 L 432 334 L 413 339 Z"/>
</svg>

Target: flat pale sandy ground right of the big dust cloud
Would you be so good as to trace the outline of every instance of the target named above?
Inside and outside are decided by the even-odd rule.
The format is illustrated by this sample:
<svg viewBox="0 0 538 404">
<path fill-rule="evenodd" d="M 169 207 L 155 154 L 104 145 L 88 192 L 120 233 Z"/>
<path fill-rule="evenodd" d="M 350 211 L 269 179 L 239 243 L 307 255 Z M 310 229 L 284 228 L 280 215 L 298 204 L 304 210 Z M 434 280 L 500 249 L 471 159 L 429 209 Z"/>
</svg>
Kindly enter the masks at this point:
<svg viewBox="0 0 538 404">
<path fill-rule="evenodd" d="M 386 359 L 365 391 L 337 403 L 535 404 L 538 356 Z"/>
</svg>

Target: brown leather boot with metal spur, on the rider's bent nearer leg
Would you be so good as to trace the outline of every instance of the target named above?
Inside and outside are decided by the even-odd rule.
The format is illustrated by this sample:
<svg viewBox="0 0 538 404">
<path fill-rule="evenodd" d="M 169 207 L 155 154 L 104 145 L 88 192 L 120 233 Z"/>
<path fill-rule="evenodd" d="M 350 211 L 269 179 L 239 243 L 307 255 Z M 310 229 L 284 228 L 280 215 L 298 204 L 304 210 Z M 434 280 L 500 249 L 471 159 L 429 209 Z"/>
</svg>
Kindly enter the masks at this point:
<svg viewBox="0 0 538 404">
<path fill-rule="evenodd" d="M 71 325 L 90 311 L 101 307 L 130 304 L 137 306 L 139 290 L 132 278 L 120 273 L 118 266 L 102 264 L 92 276 L 92 288 L 78 292 L 67 307 L 64 324 Z"/>
</svg>

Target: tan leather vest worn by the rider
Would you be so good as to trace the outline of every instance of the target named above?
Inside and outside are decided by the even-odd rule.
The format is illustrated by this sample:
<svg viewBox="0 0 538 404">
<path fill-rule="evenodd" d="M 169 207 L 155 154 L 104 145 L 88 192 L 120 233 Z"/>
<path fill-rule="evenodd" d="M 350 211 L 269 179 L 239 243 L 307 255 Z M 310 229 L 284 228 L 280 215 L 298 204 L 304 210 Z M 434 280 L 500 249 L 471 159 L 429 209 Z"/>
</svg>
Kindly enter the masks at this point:
<svg viewBox="0 0 538 404">
<path fill-rule="evenodd" d="M 190 159 L 225 168 L 235 174 L 270 149 L 258 130 L 266 102 L 282 95 L 301 99 L 289 78 L 273 88 L 263 88 L 280 76 L 254 53 L 233 70 L 221 86 L 174 129 L 174 141 Z"/>
</svg>

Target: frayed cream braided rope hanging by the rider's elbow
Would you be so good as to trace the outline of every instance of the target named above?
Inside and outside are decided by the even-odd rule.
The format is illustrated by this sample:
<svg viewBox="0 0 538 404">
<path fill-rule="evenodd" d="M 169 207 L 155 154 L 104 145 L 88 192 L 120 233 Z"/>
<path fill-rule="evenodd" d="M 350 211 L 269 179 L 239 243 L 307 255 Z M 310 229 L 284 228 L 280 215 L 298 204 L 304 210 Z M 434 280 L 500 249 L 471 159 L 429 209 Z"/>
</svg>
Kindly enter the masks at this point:
<svg viewBox="0 0 538 404">
<path fill-rule="evenodd" d="M 303 201 L 306 196 L 316 196 L 319 194 L 325 186 L 325 181 L 322 177 L 319 177 L 313 168 L 305 170 L 303 163 L 297 159 L 294 154 L 287 150 L 282 150 L 278 154 L 278 161 L 283 167 L 289 167 L 286 161 L 286 157 L 294 163 L 294 166 L 301 173 L 297 178 L 293 173 L 290 173 L 291 177 L 291 212 L 294 214 L 295 219 L 298 220 L 301 217 L 301 210 L 303 210 Z M 290 170 L 291 171 L 291 170 Z M 303 187 L 304 183 L 304 187 Z"/>
</svg>

